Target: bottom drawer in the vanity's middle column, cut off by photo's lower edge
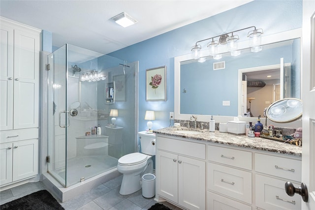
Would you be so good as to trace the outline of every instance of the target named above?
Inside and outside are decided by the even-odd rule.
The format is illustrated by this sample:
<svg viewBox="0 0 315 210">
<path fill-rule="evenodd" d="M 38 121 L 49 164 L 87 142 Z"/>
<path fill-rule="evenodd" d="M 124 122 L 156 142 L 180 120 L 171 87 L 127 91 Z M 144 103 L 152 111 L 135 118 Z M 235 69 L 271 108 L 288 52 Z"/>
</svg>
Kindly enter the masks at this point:
<svg viewBox="0 0 315 210">
<path fill-rule="evenodd" d="M 251 206 L 207 192 L 208 210 L 252 210 Z"/>
</svg>

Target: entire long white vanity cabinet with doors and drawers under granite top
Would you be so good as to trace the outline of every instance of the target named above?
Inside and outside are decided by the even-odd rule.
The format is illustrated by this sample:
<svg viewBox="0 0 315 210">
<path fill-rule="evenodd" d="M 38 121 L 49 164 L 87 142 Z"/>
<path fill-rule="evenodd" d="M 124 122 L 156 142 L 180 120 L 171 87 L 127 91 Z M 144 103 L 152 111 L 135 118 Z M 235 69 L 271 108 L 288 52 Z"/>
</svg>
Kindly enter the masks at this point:
<svg viewBox="0 0 315 210">
<path fill-rule="evenodd" d="M 300 156 L 156 135 L 156 201 L 189 210 L 301 209 L 301 196 L 284 190 L 286 181 L 301 183 Z"/>
</svg>

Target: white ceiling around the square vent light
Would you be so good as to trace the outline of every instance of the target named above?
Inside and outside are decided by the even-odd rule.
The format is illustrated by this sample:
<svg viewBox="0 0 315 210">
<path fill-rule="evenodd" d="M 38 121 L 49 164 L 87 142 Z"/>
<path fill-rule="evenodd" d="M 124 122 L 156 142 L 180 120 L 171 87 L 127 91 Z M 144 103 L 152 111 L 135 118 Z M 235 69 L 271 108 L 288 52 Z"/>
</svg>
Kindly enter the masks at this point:
<svg viewBox="0 0 315 210">
<path fill-rule="evenodd" d="M 0 0 L 0 15 L 53 33 L 65 43 L 107 54 L 252 0 Z M 111 18 L 126 12 L 138 23 Z"/>
</svg>

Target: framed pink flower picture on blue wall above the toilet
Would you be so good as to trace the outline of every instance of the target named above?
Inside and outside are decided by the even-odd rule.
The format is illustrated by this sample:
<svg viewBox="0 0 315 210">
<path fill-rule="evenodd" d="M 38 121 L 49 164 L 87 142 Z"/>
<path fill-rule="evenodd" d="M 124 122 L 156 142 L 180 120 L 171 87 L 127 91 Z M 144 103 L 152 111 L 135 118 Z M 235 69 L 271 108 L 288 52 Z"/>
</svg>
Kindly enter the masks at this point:
<svg viewBox="0 0 315 210">
<path fill-rule="evenodd" d="M 166 101 L 166 66 L 147 69 L 146 101 Z"/>
</svg>

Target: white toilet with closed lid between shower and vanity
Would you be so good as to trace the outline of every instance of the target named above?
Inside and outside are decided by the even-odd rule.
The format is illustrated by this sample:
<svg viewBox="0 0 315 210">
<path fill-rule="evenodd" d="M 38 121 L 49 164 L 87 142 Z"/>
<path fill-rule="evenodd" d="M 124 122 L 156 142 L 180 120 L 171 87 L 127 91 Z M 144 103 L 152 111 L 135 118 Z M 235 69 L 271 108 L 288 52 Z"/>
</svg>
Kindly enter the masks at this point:
<svg viewBox="0 0 315 210">
<path fill-rule="evenodd" d="M 156 155 L 155 134 L 146 131 L 138 132 L 141 142 L 141 152 L 126 154 L 119 158 L 117 170 L 123 174 L 123 181 L 119 193 L 128 195 L 141 189 L 140 177 L 153 173 L 152 156 Z"/>
</svg>

